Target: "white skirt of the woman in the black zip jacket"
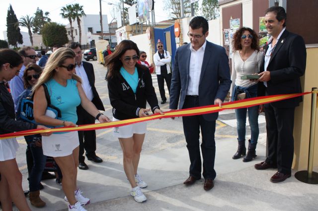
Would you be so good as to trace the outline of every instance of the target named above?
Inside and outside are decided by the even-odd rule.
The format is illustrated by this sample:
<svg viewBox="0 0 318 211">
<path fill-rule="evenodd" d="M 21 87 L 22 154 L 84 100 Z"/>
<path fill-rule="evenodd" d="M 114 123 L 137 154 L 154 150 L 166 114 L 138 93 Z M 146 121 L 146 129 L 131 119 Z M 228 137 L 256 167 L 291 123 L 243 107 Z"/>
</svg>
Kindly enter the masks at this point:
<svg viewBox="0 0 318 211">
<path fill-rule="evenodd" d="M 119 121 L 113 117 L 113 121 Z M 134 134 L 145 134 L 147 131 L 147 123 L 146 122 L 138 122 L 135 124 L 129 124 L 120 127 L 113 128 L 113 136 L 116 138 L 130 138 L 133 137 Z"/>
</svg>

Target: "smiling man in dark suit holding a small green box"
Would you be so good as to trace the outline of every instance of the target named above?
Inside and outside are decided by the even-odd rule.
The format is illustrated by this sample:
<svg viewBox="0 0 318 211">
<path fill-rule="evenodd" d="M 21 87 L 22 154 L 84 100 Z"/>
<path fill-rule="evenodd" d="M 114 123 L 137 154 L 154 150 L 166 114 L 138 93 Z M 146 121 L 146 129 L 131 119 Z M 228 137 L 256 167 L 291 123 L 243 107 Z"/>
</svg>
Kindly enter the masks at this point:
<svg viewBox="0 0 318 211">
<path fill-rule="evenodd" d="M 306 47 L 301 36 L 286 30 L 283 7 L 270 7 L 265 24 L 272 37 L 260 66 L 259 96 L 301 93 L 300 77 L 306 68 Z M 271 182 L 282 182 L 291 176 L 294 157 L 294 111 L 302 97 L 264 105 L 268 140 L 268 156 L 255 164 L 258 170 L 278 168 Z"/>
</svg>

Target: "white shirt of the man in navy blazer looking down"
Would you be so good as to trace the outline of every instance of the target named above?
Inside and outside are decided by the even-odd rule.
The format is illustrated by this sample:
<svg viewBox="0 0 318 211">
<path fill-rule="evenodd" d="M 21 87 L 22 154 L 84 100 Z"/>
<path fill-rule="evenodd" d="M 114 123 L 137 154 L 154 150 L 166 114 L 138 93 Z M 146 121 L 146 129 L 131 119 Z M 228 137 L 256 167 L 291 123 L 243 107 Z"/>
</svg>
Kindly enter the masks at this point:
<svg viewBox="0 0 318 211">
<path fill-rule="evenodd" d="M 198 51 L 192 48 L 190 45 L 190 65 L 189 65 L 189 83 L 187 89 L 187 95 L 199 95 L 199 82 L 203 63 L 203 56 L 207 41 L 198 49 Z"/>
</svg>

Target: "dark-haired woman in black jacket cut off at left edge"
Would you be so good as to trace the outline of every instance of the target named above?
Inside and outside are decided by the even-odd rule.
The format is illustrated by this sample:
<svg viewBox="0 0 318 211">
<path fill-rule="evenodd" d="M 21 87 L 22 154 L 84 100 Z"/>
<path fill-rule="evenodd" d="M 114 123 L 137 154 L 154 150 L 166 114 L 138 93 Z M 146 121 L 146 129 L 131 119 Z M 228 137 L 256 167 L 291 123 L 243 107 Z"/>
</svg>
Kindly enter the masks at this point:
<svg viewBox="0 0 318 211">
<path fill-rule="evenodd" d="M 0 134 L 35 128 L 49 129 L 15 120 L 12 96 L 4 83 L 18 75 L 22 63 L 23 59 L 19 53 L 9 49 L 0 50 Z M 12 210 L 13 201 L 20 211 L 30 211 L 22 190 L 22 174 L 15 160 L 18 147 L 15 138 L 0 139 L 0 201 L 2 210 Z"/>
</svg>

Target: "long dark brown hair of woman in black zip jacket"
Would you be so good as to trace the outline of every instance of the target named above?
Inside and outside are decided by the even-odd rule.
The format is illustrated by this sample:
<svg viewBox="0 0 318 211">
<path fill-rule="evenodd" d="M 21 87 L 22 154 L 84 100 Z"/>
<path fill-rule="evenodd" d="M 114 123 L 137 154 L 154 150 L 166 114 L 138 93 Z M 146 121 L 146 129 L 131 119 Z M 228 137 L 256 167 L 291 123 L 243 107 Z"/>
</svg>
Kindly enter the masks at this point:
<svg viewBox="0 0 318 211">
<path fill-rule="evenodd" d="M 135 50 L 138 57 L 140 56 L 139 49 L 136 43 L 134 43 L 131 40 L 123 40 L 118 44 L 116 51 L 114 53 L 111 53 L 110 55 L 104 58 L 105 66 L 107 66 L 107 69 L 109 71 L 107 74 L 108 79 L 120 75 L 119 71 L 120 68 L 123 66 L 123 62 L 120 58 L 128 50 Z M 138 64 L 137 62 L 135 66 L 141 69 L 147 68 L 141 64 Z"/>
</svg>

